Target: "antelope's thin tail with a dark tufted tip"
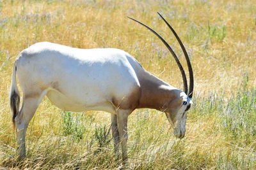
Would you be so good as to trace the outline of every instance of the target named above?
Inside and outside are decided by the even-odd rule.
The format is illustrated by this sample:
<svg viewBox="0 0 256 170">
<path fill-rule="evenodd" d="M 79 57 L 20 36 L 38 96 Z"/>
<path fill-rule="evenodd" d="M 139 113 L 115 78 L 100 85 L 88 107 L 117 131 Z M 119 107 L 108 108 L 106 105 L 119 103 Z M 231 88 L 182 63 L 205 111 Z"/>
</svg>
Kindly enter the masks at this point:
<svg viewBox="0 0 256 170">
<path fill-rule="evenodd" d="M 13 72 L 12 72 L 12 85 L 10 89 L 10 107 L 12 110 L 12 123 L 13 127 L 15 127 L 15 117 L 19 113 L 19 105 L 20 105 L 20 95 L 19 90 L 17 87 L 17 81 L 16 81 L 16 62 L 13 65 Z"/>
</svg>

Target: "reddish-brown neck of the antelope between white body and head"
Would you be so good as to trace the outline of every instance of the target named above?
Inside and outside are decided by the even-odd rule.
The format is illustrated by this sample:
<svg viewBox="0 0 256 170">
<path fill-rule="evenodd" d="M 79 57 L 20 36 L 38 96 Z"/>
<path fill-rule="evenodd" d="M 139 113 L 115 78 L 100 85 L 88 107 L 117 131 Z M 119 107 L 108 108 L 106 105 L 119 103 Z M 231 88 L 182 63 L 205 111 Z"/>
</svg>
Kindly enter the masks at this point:
<svg viewBox="0 0 256 170">
<path fill-rule="evenodd" d="M 144 73 L 139 78 L 141 85 L 141 96 L 137 108 L 152 108 L 164 111 L 170 102 L 177 98 L 180 90 L 168 85 L 150 73 Z M 178 92 L 178 93 L 177 93 Z"/>
</svg>

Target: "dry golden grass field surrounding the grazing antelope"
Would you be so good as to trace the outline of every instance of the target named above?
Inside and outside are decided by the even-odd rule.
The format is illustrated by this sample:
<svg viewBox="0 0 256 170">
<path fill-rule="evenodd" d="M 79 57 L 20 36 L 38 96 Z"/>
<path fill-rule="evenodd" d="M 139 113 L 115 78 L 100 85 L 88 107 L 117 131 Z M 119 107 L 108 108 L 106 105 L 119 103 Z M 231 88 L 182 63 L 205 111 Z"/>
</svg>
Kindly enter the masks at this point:
<svg viewBox="0 0 256 170">
<path fill-rule="evenodd" d="M 256 4 L 254 0 L 0 0 L 0 167 L 117 169 L 110 114 L 63 112 L 45 97 L 27 132 L 27 157 L 17 161 L 8 93 L 21 50 L 39 41 L 78 48 L 120 48 L 175 87 L 182 78 L 161 41 L 126 16 L 152 26 L 185 64 L 157 11 L 186 46 L 195 74 L 194 105 L 184 139 L 165 115 L 129 117 L 131 169 L 256 169 Z"/>
</svg>

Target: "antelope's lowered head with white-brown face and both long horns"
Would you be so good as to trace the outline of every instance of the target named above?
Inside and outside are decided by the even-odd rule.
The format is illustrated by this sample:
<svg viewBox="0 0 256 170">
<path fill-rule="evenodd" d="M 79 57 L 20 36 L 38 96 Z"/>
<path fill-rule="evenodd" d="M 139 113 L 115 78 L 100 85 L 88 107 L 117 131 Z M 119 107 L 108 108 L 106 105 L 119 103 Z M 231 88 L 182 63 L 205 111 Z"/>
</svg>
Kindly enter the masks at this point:
<svg viewBox="0 0 256 170">
<path fill-rule="evenodd" d="M 191 99 L 193 96 L 193 87 L 194 87 L 193 69 L 188 57 L 188 53 L 186 52 L 186 48 L 184 47 L 179 36 L 174 31 L 172 26 L 162 17 L 162 15 L 160 13 L 158 13 L 158 15 L 164 20 L 165 24 L 168 25 L 170 30 L 173 32 L 175 38 L 179 42 L 182 52 L 184 53 L 187 66 L 188 66 L 188 71 L 189 71 L 189 90 L 188 90 L 188 81 L 186 78 L 185 71 L 182 65 L 180 64 L 180 61 L 177 55 L 175 54 L 175 52 L 173 52 L 170 45 L 168 45 L 168 43 L 156 31 L 154 31 L 147 25 L 139 22 L 138 20 L 135 20 L 134 18 L 131 18 L 131 19 L 143 25 L 151 32 L 153 32 L 164 43 L 164 45 L 168 48 L 170 53 L 172 53 L 172 56 L 174 57 L 175 61 L 177 62 L 177 65 L 179 66 L 180 73 L 182 74 L 182 80 L 183 80 L 183 92 L 179 92 L 179 94 L 175 94 L 174 98 L 172 97 L 170 103 L 168 104 L 168 108 L 164 112 L 166 113 L 166 117 L 168 118 L 168 121 L 171 124 L 173 124 L 174 135 L 177 138 L 183 138 L 186 132 L 187 111 L 189 110 L 192 104 Z"/>
</svg>

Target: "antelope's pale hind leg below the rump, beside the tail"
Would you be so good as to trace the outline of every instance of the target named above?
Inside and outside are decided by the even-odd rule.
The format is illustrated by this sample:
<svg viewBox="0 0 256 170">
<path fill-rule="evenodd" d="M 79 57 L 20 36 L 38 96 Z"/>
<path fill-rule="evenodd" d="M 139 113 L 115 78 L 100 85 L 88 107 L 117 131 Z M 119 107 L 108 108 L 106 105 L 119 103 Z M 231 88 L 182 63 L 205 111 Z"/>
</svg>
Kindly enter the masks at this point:
<svg viewBox="0 0 256 170">
<path fill-rule="evenodd" d="M 22 159 L 26 156 L 26 131 L 28 128 L 28 124 L 35 114 L 36 109 L 40 101 L 45 94 L 38 95 L 38 97 L 26 97 L 24 96 L 24 101 L 22 103 L 22 108 L 19 111 L 17 117 L 15 117 L 15 125 L 16 125 L 16 134 L 17 134 L 17 142 L 18 142 L 18 149 L 17 153 L 19 159 Z"/>
</svg>

